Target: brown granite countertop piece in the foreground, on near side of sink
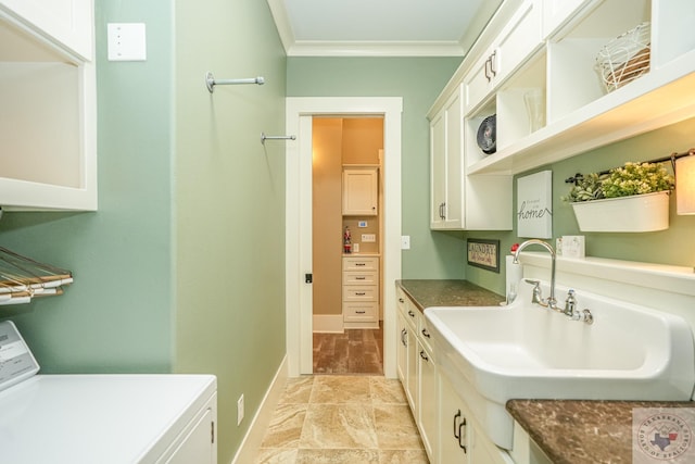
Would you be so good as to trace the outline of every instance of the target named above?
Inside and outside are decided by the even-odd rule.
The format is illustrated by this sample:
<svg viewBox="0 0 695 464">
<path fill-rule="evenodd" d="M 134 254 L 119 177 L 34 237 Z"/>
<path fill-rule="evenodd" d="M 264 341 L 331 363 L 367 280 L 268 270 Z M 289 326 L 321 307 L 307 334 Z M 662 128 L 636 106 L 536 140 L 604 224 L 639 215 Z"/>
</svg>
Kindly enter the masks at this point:
<svg viewBox="0 0 695 464">
<path fill-rule="evenodd" d="M 632 412 L 637 407 L 668 412 L 669 409 L 695 407 L 695 402 L 589 400 L 510 400 L 507 402 L 509 414 L 555 464 L 632 463 Z M 649 416 L 650 414 L 647 414 L 647 417 Z M 634 442 L 635 452 L 640 453 L 637 440 L 635 439 Z"/>
</svg>

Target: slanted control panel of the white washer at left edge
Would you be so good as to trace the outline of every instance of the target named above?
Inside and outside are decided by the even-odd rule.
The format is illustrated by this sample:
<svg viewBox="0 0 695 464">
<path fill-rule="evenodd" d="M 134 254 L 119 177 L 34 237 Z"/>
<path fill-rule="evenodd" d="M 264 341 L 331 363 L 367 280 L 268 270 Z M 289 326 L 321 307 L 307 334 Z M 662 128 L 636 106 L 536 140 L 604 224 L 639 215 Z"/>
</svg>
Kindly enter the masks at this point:
<svg viewBox="0 0 695 464">
<path fill-rule="evenodd" d="M 0 390 L 12 387 L 39 372 L 20 331 L 11 321 L 0 323 Z"/>
</svg>

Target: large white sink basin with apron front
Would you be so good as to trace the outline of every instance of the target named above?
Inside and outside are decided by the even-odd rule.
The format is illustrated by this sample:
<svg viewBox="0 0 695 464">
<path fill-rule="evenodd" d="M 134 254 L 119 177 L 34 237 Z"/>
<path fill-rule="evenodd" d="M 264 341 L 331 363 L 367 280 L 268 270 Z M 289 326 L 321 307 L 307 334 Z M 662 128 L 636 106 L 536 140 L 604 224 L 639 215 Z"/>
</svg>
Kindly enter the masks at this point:
<svg viewBox="0 0 695 464">
<path fill-rule="evenodd" d="M 587 325 L 521 299 L 425 311 L 439 364 L 500 447 L 511 448 L 510 399 L 691 399 L 695 349 L 682 317 L 578 291 Z"/>
</svg>

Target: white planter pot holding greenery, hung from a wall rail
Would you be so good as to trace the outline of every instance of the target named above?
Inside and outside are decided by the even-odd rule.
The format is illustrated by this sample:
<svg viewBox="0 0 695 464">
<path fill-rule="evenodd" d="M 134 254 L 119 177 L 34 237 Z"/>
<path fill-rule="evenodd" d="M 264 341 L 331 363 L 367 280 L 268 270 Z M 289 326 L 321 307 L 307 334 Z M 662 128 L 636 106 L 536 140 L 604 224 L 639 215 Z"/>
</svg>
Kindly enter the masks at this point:
<svg viewBox="0 0 695 464">
<path fill-rule="evenodd" d="M 669 192 L 572 203 L 581 231 L 637 233 L 669 228 Z"/>
</svg>

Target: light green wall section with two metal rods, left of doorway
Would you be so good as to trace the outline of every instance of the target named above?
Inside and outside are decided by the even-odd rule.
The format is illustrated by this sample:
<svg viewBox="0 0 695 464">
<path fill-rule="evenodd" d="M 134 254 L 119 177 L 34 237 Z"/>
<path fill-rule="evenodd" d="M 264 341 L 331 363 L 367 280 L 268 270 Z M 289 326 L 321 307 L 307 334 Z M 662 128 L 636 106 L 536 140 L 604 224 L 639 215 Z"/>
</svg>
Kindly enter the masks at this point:
<svg viewBox="0 0 695 464">
<path fill-rule="evenodd" d="M 286 352 L 286 142 L 261 145 L 285 133 L 286 58 L 265 1 L 176 4 L 176 371 L 217 374 L 228 463 Z M 207 71 L 266 84 L 211 95 Z"/>
</svg>

